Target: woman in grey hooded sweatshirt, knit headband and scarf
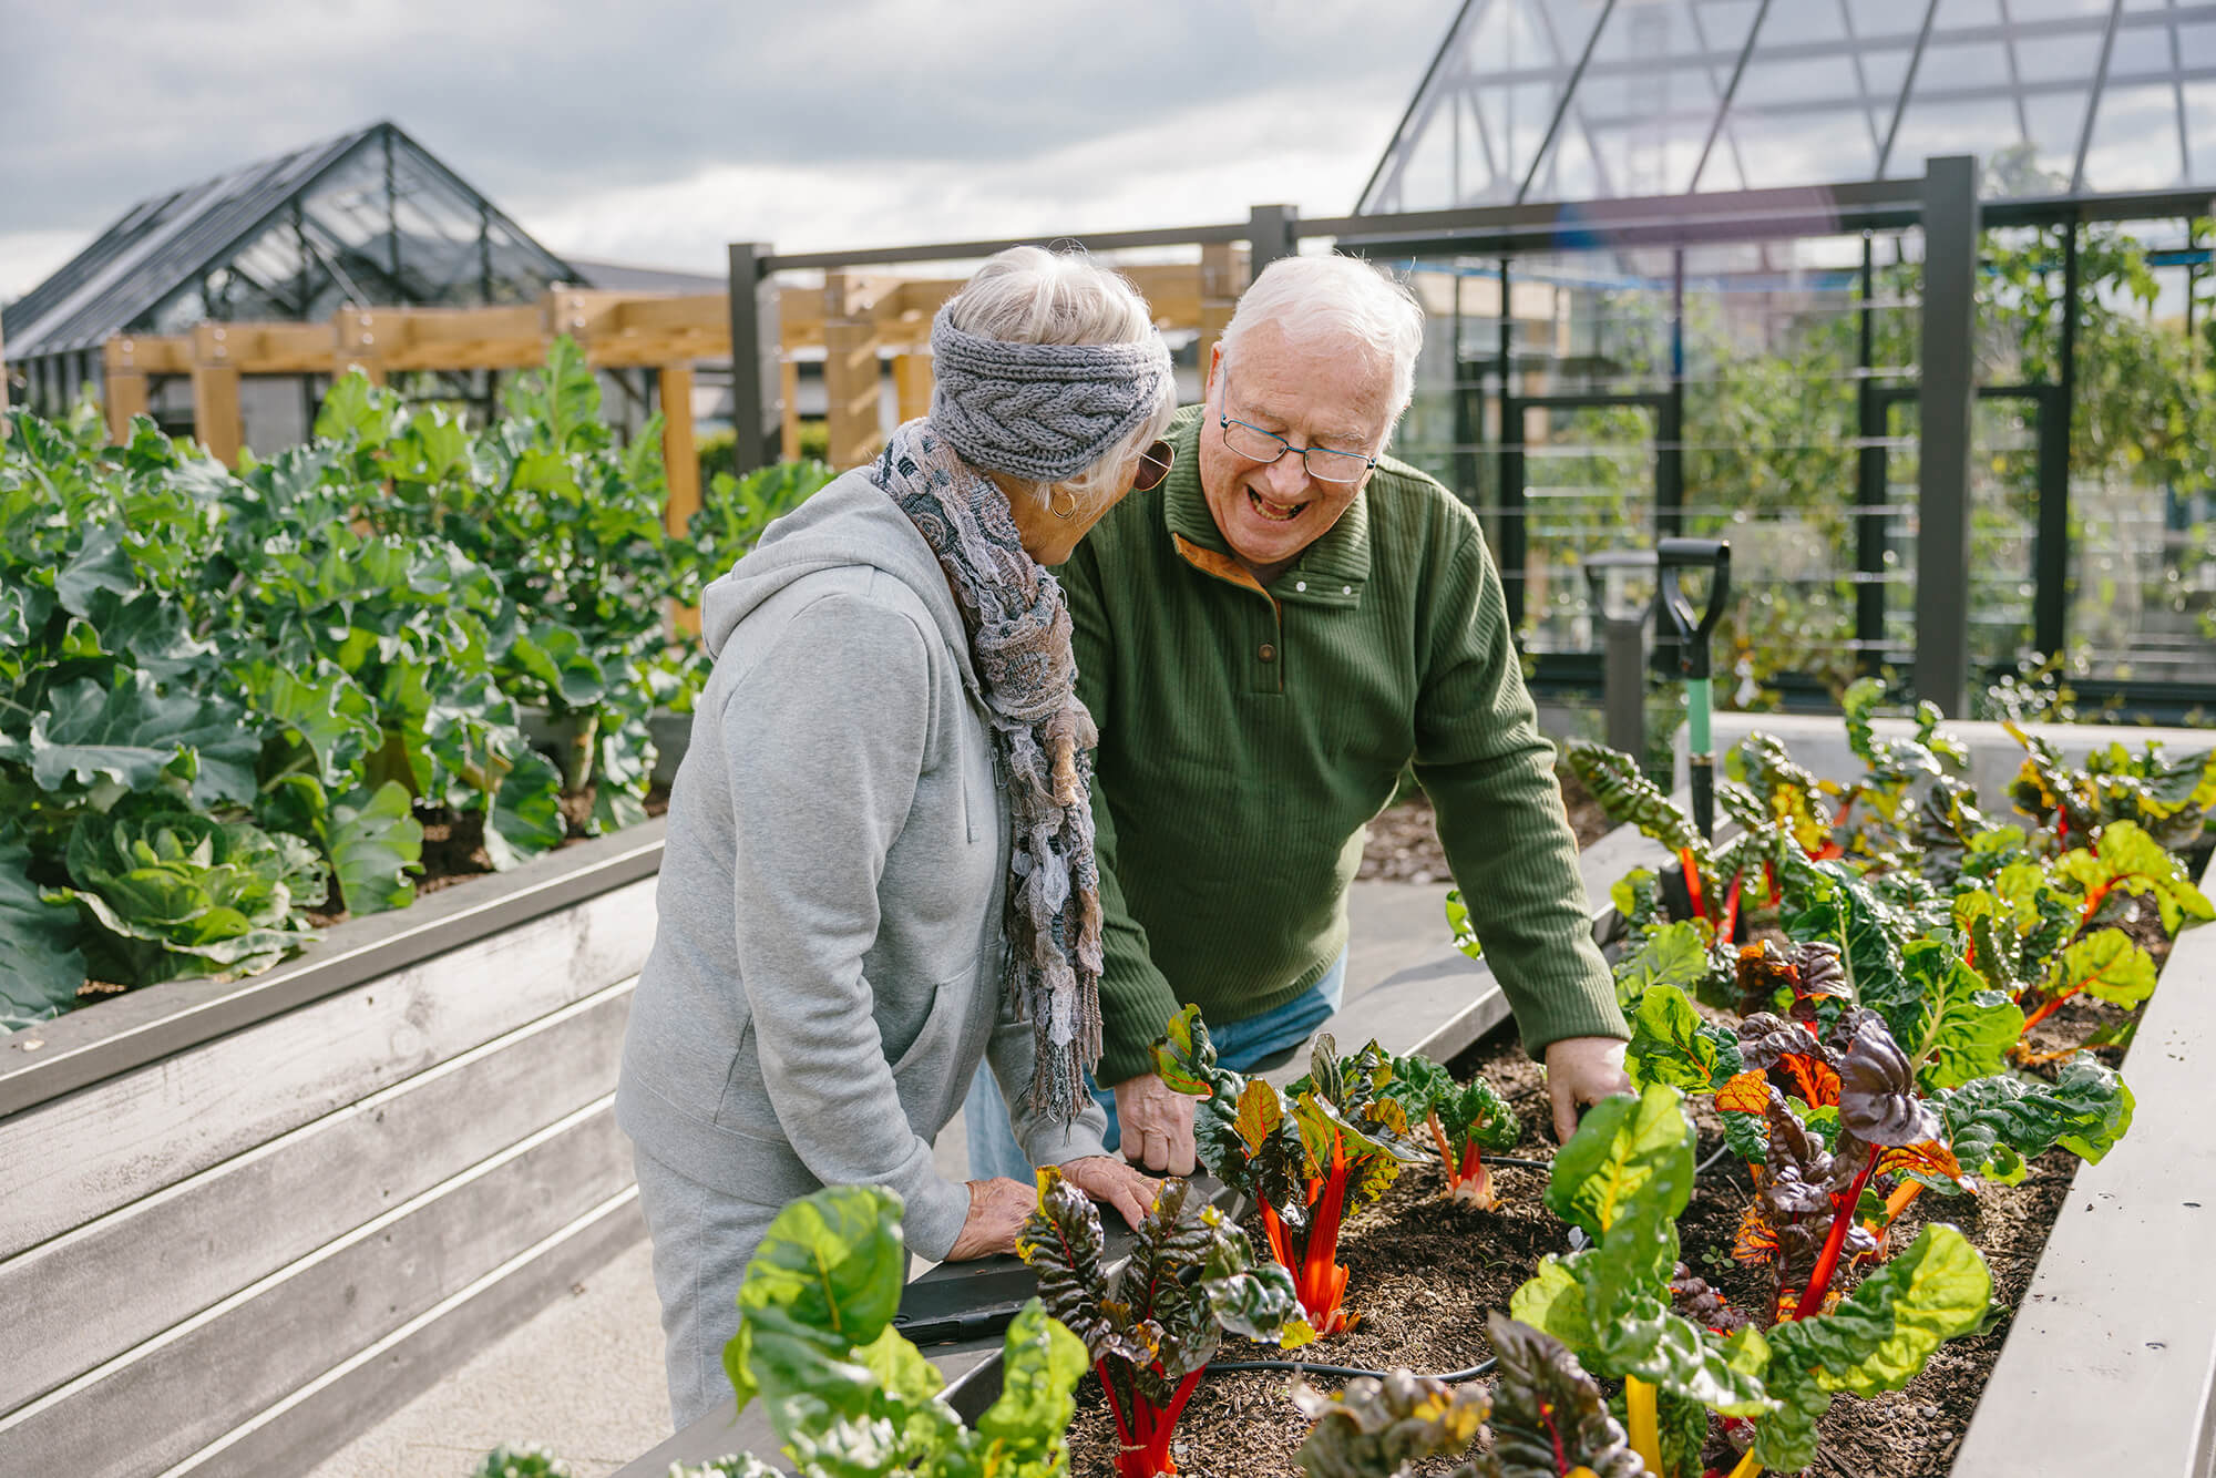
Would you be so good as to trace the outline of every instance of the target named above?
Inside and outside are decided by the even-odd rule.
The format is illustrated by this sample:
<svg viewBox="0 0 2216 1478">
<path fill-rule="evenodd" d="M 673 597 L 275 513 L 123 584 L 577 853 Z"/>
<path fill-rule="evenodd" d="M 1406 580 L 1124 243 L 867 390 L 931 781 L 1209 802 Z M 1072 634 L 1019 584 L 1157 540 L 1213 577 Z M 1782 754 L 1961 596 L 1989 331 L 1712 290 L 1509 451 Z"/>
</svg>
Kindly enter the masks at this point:
<svg viewBox="0 0 2216 1478">
<path fill-rule="evenodd" d="M 926 1259 L 1008 1252 L 1035 1190 L 931 1143 L 979 1061 L 1035 1163 L 1137 1221 L 1101 1150 L 1092 718 L 1044 565 L 1168 472 L 1170 355 L 1079 255 L 993 257 L 931 328 L 931 414 L 702 601 L 716 660 L 669 798 L 616 1117 L 678 1427 L 727 1392 L 740 1276 L 820 1186 L 891 1186 Z"/>
</svg>

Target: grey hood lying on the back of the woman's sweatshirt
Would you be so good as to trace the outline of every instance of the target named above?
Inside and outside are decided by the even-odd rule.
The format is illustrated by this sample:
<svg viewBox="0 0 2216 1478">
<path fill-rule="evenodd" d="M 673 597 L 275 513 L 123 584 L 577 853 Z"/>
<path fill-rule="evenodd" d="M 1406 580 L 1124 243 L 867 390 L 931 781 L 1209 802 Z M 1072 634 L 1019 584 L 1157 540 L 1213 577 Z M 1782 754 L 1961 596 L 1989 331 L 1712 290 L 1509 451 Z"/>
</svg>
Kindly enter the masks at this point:
<svg viewBox="0 0 2216 1478">
<path fill-rule="evenodd" d="M 979 691 L 968 629 L 937 556 L 862 468 L 840 474 L 771 523 L 760 543 L 700 594 L 700 640 L 709 658 L 722 656 L 738 623 L 793 581 L 847 567 L 882 569 L 913 589 L 955 651 L 962 685 Z"/>
</svg>

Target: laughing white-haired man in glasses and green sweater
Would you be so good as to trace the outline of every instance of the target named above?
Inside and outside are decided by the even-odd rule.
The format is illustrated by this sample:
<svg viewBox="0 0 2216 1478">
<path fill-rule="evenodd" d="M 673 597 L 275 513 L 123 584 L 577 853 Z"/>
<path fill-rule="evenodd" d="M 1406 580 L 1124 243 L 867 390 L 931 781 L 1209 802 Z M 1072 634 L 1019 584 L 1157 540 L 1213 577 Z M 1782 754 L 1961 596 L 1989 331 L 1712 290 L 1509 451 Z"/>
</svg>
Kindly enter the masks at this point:
<svg viewBox="0 0 2216 1478">
<path fill-rule="evenodd" d="M 1556 1130 L 1631 1086 L 1500 574 L 1476 516 L 1383 456 L 1420 339 L 1423 310 L 1367 264 L 1270 264 L 1203 406 L 1170 430 L 1170 476 L 1061 572 L 1101 733 L 1095 1079 L 1124 1154 L 1152 1170 L 1192 1170 L 1192 1099 L 1148 1053 L 1183 1004 L 1241 1070 L 1336 1010 L 1363 827 L 1409 760 L 1545 1055 Z M 1024 1174 L 988 1090 L 971 1099 L 971 1174 Z"/>
</svg>

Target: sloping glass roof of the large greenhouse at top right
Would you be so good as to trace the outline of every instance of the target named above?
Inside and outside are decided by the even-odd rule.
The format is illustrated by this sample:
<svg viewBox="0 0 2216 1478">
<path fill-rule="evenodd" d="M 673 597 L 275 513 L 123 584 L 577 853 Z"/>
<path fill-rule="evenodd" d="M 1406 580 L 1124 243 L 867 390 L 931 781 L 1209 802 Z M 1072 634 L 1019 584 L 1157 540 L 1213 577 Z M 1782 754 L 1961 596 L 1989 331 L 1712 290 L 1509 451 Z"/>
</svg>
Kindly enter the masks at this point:
<svg viewBox="0 0 2216 1478">
<path fill-rule="evenodd" d="M 2216 186 L 2216 4 L 1465 0 L 1363 213 L 1846 184 Z"/>
</svg>

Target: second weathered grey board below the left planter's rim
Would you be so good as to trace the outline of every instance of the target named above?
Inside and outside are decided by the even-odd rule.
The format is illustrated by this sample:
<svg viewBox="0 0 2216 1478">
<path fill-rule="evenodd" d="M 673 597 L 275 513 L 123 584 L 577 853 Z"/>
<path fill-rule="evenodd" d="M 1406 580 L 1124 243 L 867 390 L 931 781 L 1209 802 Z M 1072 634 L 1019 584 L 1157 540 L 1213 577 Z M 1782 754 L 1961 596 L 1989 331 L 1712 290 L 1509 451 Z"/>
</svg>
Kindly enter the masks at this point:
<svg viewBox="0 0 2216 1478">
<path fill-rule="evenodd" d="M 607 986 L 0 1263 L 0 1307 L 40 1352 L 0 1363 L 0 1412 L 605 1097 L 629 1002 L 632 982 Z"/>
</svg>

